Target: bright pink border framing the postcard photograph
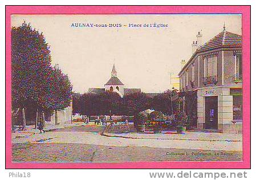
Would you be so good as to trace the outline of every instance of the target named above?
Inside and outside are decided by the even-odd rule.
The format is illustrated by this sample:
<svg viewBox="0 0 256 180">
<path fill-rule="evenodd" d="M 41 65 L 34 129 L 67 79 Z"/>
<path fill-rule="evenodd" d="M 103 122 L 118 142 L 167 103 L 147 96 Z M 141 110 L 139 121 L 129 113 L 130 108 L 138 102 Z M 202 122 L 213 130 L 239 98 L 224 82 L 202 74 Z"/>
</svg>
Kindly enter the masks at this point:
<svg viewBox="0 0 256 180">
<path fill-rule="evenodd" d="M 11 162 L 11 14 L 242 14 L 243 161 Z M 250 6 L 6 6 L 6 169 L 250 169 Z"/>
</svg>

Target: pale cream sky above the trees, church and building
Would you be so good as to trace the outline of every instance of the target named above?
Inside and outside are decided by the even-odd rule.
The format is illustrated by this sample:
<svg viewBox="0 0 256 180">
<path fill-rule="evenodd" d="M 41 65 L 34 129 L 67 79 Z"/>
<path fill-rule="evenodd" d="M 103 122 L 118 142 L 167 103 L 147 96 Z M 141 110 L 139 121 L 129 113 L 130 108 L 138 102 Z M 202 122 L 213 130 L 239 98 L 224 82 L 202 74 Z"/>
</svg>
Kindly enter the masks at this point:
<svg viewBox="0 0 256 180">
<path fill-rule="evenodd" d="M 113 63 L 125 88 L 163 92 L 170 88 L 170 72 L 177 75 L 181 59 L 188 61 L 192 55 L 198 31 L 203 43 L 220 33 L 224 22 L 226 31 L 242 34 L 239 14 L 12 15 L 11 26 L 24 21 L 43 32 L 52 65 L 59 64 L 73 91 L 80 93 L 104 88 Z M 74 27 L 75 23 L 93 27 Z M 109 23 L 121 27 L 109 27 Z M 167 27 L 144 27 L 153 23 Z"/>
</svg>

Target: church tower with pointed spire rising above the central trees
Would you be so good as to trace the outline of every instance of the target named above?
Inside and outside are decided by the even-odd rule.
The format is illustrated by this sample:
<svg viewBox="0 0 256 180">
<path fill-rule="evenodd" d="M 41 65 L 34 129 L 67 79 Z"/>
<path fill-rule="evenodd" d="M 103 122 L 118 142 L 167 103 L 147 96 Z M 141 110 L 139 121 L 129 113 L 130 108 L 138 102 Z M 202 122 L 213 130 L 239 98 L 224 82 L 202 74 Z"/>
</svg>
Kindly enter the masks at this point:
<svg viewBox="0 0 256 180">
<path fill-rule="evenodd" d="M 113 91 L 119 93 L 121 97 L 124 96 L 124 84 L 118 79 L 115 64 L 111 71 L 111 78 L 104 85 L 105 91 Z"/>
</svg>

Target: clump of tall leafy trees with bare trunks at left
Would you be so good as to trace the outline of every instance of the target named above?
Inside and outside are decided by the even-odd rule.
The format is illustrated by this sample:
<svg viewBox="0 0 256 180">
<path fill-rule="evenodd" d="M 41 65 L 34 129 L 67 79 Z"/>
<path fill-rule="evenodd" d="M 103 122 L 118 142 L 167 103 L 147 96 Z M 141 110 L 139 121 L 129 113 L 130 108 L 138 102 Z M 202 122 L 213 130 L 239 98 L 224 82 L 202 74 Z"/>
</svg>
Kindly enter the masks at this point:
<svg viewBox="0 0 256 180">
<path fill-rule="evenodd" d="M 36 116 L 36 126 L 39 114 L 50 116 L 72 100 L 68 76 L 58 66 L 51 66 L 50 46 L 43 34 L 26 22 L 11 28 L 11 82 L 13 116 L 22 119 L 24 128 L 26 115 Z"/>
</svg>

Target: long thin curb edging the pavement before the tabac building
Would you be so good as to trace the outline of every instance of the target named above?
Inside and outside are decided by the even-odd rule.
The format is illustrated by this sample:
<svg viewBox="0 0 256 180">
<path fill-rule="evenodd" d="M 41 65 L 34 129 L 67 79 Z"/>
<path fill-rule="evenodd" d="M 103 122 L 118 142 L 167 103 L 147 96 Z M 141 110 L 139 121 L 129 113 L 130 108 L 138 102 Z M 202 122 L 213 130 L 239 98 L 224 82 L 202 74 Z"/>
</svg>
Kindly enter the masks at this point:
<svg viewBox="0 0 256 180">
<path fill-rule="evenodd" d="M 101 134 L 101 136 L 105 137 L 119 137 L 119 138 L 127 138 L 127 139 L 145 139 L 145 140 L 181 140 L 181 141 L 209 141 L 209 142 L 242 142 L 242 140 L 205 140 L 205 139 L 192 139 L 192 138 L 152 138 L 152 137 L 128 137 L 128 136 L 118 136 L 118 135 L 110 135 L 110 134 Z"/>
</svg>

